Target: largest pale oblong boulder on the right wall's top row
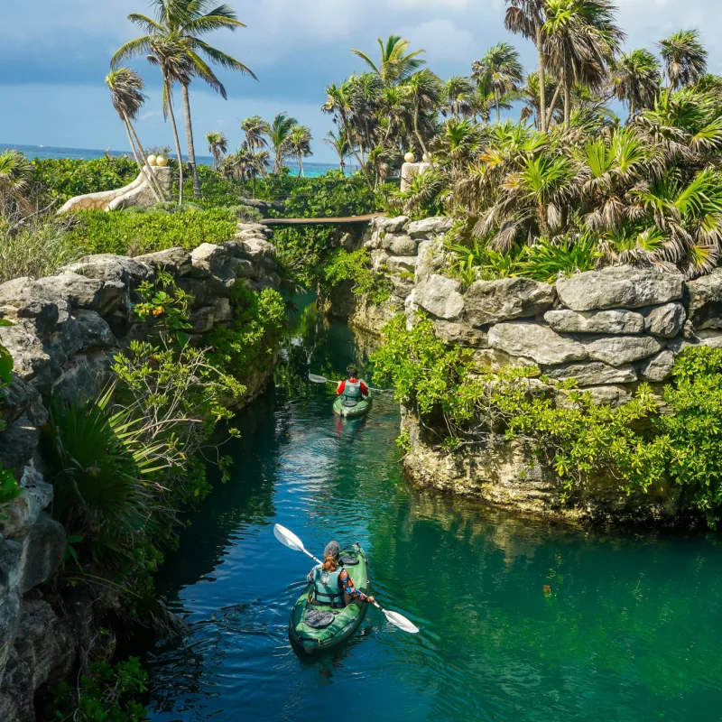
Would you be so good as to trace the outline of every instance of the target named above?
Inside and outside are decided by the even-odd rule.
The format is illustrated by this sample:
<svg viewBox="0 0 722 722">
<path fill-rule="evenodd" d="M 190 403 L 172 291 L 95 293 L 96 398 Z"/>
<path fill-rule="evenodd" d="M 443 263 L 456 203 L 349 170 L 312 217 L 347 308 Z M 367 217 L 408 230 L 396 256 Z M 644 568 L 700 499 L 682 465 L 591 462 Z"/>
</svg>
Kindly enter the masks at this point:
<svg viewBox="0 0 722 722">
<path fill-rule="evenodd" d="M 654 273 L 630 265 L 578 273 L 557 282 L 560 301 L 571 310 L 638 309 L 681 298 L 680 273 Z"/>
</svg>

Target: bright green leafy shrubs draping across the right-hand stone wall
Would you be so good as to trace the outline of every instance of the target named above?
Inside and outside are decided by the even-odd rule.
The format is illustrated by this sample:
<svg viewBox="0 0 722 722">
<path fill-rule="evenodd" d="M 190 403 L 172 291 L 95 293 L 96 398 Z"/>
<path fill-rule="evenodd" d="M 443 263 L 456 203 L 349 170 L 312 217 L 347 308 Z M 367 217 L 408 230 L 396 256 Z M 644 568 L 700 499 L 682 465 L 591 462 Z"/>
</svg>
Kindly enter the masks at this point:
<svg viewBox="0 0 722 722">
<path fill-rule="evenodd" d="M 449 452 L 493 436 L 532 443 L 573 496 L 590 477 L 620 491 L 679 486 L 687 506 L 717 523 L 722 509 L 722 349 L 692 347 L 674 366 L 663 400 L 647 384 L 619 408 L 597 406 L 571 382 L 534 367 L 479 366 L 473 352 L 448 348 L 429 319 L 413 329 L 399 316 L 384 329 L 375 381 L 393 384 L 424 428 Z"/>
</svg>

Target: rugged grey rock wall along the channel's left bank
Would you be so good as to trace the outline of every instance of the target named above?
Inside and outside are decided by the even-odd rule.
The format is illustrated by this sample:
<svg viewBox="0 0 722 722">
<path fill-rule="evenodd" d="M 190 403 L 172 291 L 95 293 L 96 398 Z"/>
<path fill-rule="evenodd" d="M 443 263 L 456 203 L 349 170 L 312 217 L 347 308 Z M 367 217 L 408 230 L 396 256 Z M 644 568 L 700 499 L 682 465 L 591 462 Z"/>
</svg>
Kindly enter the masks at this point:
<svg viewBox="0 0 722 722">
<path fill-rule="evenodd" d="M 0 461 L 18 471 L 23 493 L 2 509 L 0 522 L 0 719 L 35 719 L 35 691 L 65 678 L 78 662 L 102 604 L 82 595 L 60 609 L 43 597 L 65 553 L 65 532 L 46 511 L 52 486 L 42 477 L 38 453 L 48 419 L 43 400 L 97 394 L 110 378 L 112 358 L 133 339 L 153 338 L 153 325 L 134 319 L 135 289 L 158 270 L 171 273 L 193 298 L 191 343 L 231 320 L 229 295 L 237 279 L 254 291 L 278 288 L 268 229 L 239 224 L 223 245 L 199 245 L 135 258 L 91 255 L 57 275 L 19 278 L 0 285 L 0 341 L 14 357 L 12 383 L 2 401 L 7 427 L 0 433 Z M 247 403 L 263 389 L 272 369 L 245 383 Z M 97 602 L 97 600 L 94 600 Z M 112 604 L 112 600 L 108 602 Z"/>
</svg>

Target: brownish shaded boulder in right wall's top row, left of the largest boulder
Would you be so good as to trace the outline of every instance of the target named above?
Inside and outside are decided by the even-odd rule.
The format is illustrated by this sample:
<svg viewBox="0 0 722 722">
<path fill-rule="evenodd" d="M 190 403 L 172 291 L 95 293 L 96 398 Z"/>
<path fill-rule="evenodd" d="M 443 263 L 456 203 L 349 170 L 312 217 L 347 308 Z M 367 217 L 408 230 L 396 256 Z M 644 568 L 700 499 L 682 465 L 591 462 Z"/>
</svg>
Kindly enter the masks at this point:
<svg viewBox="0 0 722 722">
<path fill-rule="evenodd" d="M 464 294 L 467 318 L 474 326 L 535 316 L 551 309 L 554 287 L 528 278 L 475 281 Z"/>
</svg>

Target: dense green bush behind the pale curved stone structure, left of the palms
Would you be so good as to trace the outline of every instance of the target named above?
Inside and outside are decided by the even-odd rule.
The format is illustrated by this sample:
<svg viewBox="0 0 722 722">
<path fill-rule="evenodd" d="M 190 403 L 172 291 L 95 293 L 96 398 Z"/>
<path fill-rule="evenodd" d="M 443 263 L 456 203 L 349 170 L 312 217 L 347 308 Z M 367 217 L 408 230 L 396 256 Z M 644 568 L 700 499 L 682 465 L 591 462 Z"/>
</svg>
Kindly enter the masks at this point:
<svg viewBox="0 0 722 722">
<path fill-rule="evenodd" d="M 127 157 L 106 156 L 91 161 L 52 158 L 33 161 L 36 185 L 53 198 L 66 201 L 74 196 L 123 188 L 138 176 L 138 166 Z"/>
</svg>

